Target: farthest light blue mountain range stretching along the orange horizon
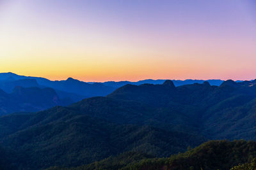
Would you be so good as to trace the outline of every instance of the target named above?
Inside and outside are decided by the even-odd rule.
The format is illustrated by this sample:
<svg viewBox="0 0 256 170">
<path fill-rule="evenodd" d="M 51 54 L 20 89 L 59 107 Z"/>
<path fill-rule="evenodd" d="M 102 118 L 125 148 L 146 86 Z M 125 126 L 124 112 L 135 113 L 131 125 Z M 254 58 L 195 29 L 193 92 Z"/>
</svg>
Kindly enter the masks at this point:
<svg viewBox="0 0 256 170">
<path fill-rule="evenodd" d="M 142 85 L 142 84 L 163 84 L 166 80 L 140 80 L 132 81 L 106 81 L 99 82 L 84 82 L 68 78 L 67 80 L 51 81 L 46 78 L 33 76 L 20 76 L 14 73 L 0 73 L 0 89 L 5 92 L 12 92 L 16 86 L 20 87 L 51 87 L 61 98 L 69 98 L 76 102 L 83 98 L 95 96 L 107 96 L 114 90 L 127 84 Z M 189 85 L 193 83 L 204 83 L 208 81 L 210 85 L 220 86 L 223 80 L 172 80 L 175 87 L 181 85 Z M 241 82 L 241 81 L 237 81 Z"/>
</svg>

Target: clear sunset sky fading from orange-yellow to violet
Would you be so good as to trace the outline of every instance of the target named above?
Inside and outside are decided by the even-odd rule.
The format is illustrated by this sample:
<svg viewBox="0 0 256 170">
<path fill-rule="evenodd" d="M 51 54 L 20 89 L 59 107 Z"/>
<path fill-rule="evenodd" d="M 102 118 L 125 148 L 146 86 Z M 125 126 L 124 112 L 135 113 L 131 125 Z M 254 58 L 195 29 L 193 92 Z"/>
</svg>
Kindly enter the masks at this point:
<svg viewBox="0 0 256 170">
<path fill-rule="evenodd" d="M 0 0 L 0 72 L 83 81 L 256 78 L 253 0 Z"/>
</svg>

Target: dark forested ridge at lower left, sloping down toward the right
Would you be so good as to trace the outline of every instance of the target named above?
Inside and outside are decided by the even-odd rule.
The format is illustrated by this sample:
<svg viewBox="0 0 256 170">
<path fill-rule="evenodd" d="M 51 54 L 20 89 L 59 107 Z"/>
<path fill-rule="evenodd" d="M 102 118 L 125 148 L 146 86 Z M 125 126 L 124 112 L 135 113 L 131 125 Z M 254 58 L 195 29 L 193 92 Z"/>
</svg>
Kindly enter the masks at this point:
<svg viewBox="0 0 256 170">
<path fill-rule="evenodd" d="M 148 125 L 113 124 L 88 115 L 74 106 L 56 107 L 31 115 L 8 115 L 0 118 L 0 124 L 8 124 L 10 117 L 17 128 L 2 132 L 5 137 L 1 143 L 26 155 L 26 160 L 17 166 L 37 169 L 54 165 L 78 166 L 128 151 L 166 157 L 204 141 L 186 132 Z M 15 116 L 19 118 L 13 118 Z M 1 127 L 8 129 L 8 125 Z"/>
</svg>

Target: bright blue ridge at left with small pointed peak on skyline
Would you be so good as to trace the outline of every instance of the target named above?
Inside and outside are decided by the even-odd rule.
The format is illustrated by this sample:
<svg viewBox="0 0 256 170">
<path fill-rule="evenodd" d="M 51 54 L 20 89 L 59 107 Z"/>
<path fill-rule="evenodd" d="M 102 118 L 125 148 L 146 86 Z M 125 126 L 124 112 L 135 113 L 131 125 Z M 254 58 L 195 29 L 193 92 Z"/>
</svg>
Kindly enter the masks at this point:
<svg viewBox="0 0 256 170">
<path fill-rule="evenodd" d="M 32 81 L 34 82 L 33 85 L 31 84 Z M 20 83 L 22 83 L 22 85 Z M 0 88 L 2 87 L 6 92 L 12 92 L 16 85 L 22 87 L 51 87 L 56 90 L 59 96 L 70 97 L 75 101 L 86 97 L 106 96 L 116 89 L 103 85 L 102 83 L 90 84 L 73 78 L 51 81 L 40 77 L 20 76 L 14 73 L 0 73 Z"/>
</svg>

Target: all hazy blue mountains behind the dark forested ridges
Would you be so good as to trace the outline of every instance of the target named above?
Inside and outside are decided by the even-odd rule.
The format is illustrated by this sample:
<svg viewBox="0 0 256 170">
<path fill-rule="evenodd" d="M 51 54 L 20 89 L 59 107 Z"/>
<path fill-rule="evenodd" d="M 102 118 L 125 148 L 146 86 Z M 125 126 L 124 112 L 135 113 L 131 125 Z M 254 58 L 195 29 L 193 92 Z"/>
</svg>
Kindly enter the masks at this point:
<svg viewBox="0 0 256 170">
<path fill-rule="evenodd" d="M 67 106 L 68 104 L 81 101 L 88 97 L 106 96 L 122 85 L 141 85 L 143 83 L 161 84 L 164 81 L 165 80 L 141 80 L 137 82 L 108 81 L 104 83 L 86 83 L 73 78 L 61 81 L 51 81 L 40 77 L 20 76 L 14 73 L 0 73 L 0 90 L 3 91 L 0 94 L 0 115 L 20 111 L 40 111 L 59 105 Z M 220 85 L 220 83 L 223 82 L 222 80 L 207 81 L 214 85 Z M 174 80 L 176 86 L 195 82 L 202 83 L 203 80 Z M 33 90 L 35 94 L 40 94 L 43 89 L 48 89 L 48 91 L 51 91 L 51 94 L 49 94 L 48 97 L 40 97 L 38 95 L 29 96 L 29 94 L 26 96 L 26 93 L 22 93 L 22 96 L 15 95 L 15 91 L 21 88 L 22 91 L 26 89 L 26 91 Z M 45 95 L 47 95 L 47 93 L 45 93 Z M 57 101 L 53 101 L 54 97 Z M 24 98 L 26 98 L 25 101 L 23 100 Z M 28 99 L 30 101 L 28 101 Z M 52 103 L 50 104 L 49 101 L 52 101 Z"/>
</svg>

